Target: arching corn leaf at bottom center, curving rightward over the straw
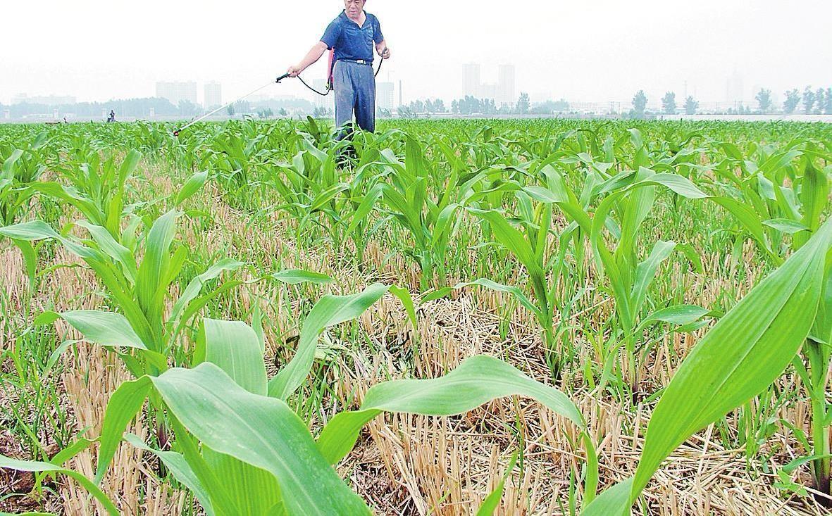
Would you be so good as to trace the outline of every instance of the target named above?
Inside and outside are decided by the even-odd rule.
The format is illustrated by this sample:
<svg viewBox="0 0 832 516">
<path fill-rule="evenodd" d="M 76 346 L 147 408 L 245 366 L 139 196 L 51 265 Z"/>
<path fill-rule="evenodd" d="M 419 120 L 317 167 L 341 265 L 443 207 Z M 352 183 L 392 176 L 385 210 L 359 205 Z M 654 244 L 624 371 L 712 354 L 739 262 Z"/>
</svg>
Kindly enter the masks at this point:
<svg viewBox="0 0 832 516">
<path fill-rule="evenodd" d="M 360 410 L 341 412 L 324 426 L 318 449 L 330 464 L 337 464 L 353 449 L 364 425 L 383 411 L 456 415 L 505 396 L 532 398 L 583 428 L 581 413 L 561 391 L 492 356 L 473 356 L 440 378 L 385 381 L 373 386 Z"/>
</svg>

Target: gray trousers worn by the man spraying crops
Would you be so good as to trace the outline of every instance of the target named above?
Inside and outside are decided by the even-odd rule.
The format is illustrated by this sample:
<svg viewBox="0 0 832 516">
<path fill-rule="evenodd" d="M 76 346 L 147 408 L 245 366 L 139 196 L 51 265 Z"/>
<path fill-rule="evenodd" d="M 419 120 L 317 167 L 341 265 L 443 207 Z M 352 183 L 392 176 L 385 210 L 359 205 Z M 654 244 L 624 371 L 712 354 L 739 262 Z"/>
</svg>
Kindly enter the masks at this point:
<svg viewBox="0 0 832 516">
<path fill-rule="evenodd" d="M 363 130 L 375 130 L 375 76 L 372 65 L 351 61 L 337 61 L 333 71 L 335 90 L 335 125 L 355 121 Z M 339 140 L 348 133 L 341 131 Z"/>
</svg>

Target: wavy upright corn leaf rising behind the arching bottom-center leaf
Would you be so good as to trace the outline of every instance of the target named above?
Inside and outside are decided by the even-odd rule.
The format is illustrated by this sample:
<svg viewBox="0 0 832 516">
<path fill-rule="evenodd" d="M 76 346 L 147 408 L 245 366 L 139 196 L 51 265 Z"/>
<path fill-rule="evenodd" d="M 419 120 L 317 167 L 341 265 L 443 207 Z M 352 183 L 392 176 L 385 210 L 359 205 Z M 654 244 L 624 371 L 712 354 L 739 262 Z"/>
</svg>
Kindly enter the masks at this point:
<svg viewBox="0 0 832 516">
<path fill-rule="evenodd" d="M 374 283 L 364 292 L 350 296 L 321 297 L 320 301 L 312 307 L 309 317 L 306 317 L 304 326 L 300 330 L 300 340 L 295 356 L 269 382 L 269 396 L 281 400 L 291 396 L 309 376 L 320 333 L 327 327 L 359 317 L 367 308 L 379 301 L 387 290 L 388 287 L 381 283 Z"/>
</svg>

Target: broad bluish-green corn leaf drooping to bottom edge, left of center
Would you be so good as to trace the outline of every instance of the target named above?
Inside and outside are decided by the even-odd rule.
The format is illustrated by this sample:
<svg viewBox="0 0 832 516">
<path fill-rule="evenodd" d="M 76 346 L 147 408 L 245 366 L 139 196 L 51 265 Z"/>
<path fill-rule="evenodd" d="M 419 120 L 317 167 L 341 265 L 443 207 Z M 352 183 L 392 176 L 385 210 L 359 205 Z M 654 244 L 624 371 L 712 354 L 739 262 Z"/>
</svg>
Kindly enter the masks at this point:
<svg viewBox="0 0 832 516">
<path fill-rule="evenodd" d="M 245 391 L 210 363 L 171 369 L 151 381 L 196 439 L 273 474 L 289 514 L 369 514 L 285 402 Z"/>
</svg>

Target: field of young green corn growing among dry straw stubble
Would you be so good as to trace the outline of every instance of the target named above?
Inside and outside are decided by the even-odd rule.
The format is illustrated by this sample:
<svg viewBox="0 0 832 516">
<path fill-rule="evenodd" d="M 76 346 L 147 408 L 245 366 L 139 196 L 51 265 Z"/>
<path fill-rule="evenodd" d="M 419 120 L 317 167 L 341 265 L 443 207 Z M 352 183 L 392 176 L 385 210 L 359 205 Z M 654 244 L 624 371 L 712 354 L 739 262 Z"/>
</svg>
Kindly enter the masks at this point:
<svg viewBox="0 0 832 516">
<path fill-rule="evenodd" d="M 832 126 L 0 126 L 0 512 L 828 514 Z"/>
</svg>

